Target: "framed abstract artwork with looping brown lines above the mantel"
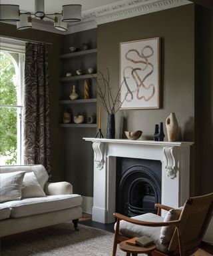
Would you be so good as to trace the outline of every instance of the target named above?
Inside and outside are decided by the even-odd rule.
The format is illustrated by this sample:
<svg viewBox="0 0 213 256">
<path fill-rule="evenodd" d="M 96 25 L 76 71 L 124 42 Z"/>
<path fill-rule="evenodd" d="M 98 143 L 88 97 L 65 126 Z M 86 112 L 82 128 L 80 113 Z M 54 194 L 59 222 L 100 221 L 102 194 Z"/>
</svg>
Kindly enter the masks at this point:
<svg viewBox="0 0 213 256">
<path fill-rule="evenodd" d="M 159 108 L 159 37 L 120 43 L 120 85 L 120 109 Z"/>
</svg>

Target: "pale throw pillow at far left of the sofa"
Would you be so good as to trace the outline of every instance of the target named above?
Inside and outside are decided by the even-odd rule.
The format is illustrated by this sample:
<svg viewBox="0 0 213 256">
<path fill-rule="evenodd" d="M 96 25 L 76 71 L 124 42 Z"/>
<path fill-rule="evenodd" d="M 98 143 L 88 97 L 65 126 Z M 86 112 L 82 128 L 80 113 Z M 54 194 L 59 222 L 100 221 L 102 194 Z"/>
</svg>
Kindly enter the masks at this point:
<svg viewBox="0 0 213 256">
<path fill-rule="evenodd" d="M 21 200 L 21 185 L 25 171 L 0 173 L 0 203 Z"/>
</svg>

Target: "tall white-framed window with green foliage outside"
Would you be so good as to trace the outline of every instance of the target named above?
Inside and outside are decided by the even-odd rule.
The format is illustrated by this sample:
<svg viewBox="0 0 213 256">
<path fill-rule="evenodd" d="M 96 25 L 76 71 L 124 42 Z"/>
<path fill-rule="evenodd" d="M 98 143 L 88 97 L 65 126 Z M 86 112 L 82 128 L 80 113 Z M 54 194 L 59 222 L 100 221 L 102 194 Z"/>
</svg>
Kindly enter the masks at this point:
<svg viewBox="0 0 213 256">
<path fill-rule="evenodd" d="M 21 165 L 25 46 L 0 41 L 0 165 Z"/>
</svg>

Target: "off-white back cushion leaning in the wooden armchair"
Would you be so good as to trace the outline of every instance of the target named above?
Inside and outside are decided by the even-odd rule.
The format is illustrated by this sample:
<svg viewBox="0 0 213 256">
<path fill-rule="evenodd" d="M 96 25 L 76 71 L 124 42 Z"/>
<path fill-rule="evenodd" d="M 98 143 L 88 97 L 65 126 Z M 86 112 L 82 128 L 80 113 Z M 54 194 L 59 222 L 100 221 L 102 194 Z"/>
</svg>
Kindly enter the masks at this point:
<svg viewBox="0 0 213 256">
<path fill-rule="evenodd" d="M 166 213 L 166 216 L 164 217 L 164 222 L 178 220 L 180 217 L 180 213 L 182 212 L 182 209 L 183 207 L 170 209 L 170 211 L 168 211 Z M 174 229 L 175 229 L 174 225 L 161 227 L 160 243 L 162 243 L 163 245 L 167 245 L 168 243 L 170 243 L 172 235 L 174 233 Z"/>
</svg>

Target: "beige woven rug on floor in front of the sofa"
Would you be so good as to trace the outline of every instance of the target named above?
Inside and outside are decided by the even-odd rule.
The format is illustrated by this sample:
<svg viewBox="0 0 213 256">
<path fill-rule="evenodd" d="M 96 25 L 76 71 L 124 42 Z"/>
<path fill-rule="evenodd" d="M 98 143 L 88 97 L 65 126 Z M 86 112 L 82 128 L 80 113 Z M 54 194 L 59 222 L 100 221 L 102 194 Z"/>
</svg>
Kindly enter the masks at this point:
<svg viewBox="0 0 213 256">
<path fill-rule="evenodd" d="M 63 223 L 1 239 L 1 256 L 110 256 L 114 235 L 100 229 Z M 126 253 L 117 249 L 116 256 Z"/>
</svg>

